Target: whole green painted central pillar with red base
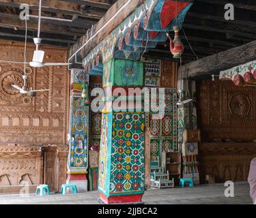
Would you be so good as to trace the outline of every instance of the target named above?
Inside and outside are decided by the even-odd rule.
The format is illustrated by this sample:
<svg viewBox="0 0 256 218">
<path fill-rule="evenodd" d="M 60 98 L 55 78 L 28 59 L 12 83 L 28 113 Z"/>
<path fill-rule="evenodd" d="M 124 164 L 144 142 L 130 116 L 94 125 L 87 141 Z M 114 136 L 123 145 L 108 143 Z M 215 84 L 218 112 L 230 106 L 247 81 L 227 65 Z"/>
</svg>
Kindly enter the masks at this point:
<svg viewBox="0 0 256 218">
<path fill-rule="evenodd" d="M 111 59 L 104 63 L 103 87 L 106 89 L 142 86 L 141 61 Z M 145 191 L 144 112 L 142 109 L 136 112 L 112 109 L 102 112 L 99 201 L 105 204 L 141 203 Z"/>
</svg>

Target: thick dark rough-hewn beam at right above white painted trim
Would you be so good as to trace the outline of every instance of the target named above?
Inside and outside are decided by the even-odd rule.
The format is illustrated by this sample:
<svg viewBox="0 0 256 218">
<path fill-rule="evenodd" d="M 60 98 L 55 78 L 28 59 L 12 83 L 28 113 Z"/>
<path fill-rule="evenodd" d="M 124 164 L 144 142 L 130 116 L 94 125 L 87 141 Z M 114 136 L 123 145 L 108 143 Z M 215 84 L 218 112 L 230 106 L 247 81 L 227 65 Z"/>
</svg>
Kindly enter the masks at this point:
<svg viewBox="0 0 256 218">
<path fill-rule="evenodd" d="M 197 79 L 211 74 L 218 74 L 221 70 L 229 69 L 256 59 L 256 41 L 231 48 L 216 55 L 211 55 L 193 61 L 180 67 L 179 71 L 185 72 L 188 78 Z"/>
</svg>

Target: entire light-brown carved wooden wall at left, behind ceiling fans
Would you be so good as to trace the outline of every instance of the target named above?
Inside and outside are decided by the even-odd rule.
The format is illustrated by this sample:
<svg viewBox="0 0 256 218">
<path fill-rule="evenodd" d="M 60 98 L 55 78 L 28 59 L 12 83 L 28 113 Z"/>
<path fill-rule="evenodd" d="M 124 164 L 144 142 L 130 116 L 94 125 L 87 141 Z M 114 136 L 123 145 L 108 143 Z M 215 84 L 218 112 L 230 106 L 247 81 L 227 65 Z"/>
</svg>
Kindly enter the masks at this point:
<svg viewBox="0 0 256 218">
<path fill-rule="evenodd" d="M 31 61 L 34 49 L 29 44 L 27 61 Z M 42 50 L 45 62 L 67 61 L 65 49 Z M 0 57 L 24 61 L 24 44 L 0 42 Z M 44 179 L 57 191 L 66 183 L 69 72 L 65 66 L 29 65 L 26 71 L 29 87 L 52 91 L 37 93 L 34 98 L 21 95 L 11 84 L 23 85 L 23 64 L 0 63 L 0 192 L 18 191 L 17 185 L 36 186 Z M 45 148 L 43 144 L 52 144 L 54 151 L 44 155 L 44 149 L 38 151 L 39 146 Z"/>
</svg>

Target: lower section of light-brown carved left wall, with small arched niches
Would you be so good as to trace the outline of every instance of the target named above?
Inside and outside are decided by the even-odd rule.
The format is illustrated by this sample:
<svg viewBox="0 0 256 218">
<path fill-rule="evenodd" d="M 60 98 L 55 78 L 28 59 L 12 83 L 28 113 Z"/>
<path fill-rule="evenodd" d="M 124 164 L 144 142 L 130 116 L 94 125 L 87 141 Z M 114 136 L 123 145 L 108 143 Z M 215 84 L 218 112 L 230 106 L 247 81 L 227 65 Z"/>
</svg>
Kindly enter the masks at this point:
<svg viewBox="0 0 256 218">
<path fill-rule="evenodd" d="M 49 185 L 59 191 L 66 183 L 67 146 L 0 146 L 0 193 L 17 185 Z"/>
</svg>

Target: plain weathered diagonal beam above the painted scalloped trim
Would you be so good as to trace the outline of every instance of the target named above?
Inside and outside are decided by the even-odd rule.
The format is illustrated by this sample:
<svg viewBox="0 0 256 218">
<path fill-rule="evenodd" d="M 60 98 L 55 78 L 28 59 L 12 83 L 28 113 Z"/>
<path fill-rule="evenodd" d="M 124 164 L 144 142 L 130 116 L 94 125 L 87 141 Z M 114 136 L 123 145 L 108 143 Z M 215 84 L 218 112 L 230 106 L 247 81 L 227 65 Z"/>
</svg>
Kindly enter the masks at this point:
<svg viewBox="0 0 256 218">
<path fill-rule="evenodd" d="M 106 12 L 104 17 L 102 17 L 99 22 L 94 25 L 93 30 L 90 30 L 91 35 L 94 35 L 106 24 L 106 22 L 109 22 L 109 20 L 117 13 L 119 8 L 121 8 L 126 3 L 126 1 L 128 0 L 119 0 L 115 4 L 113 4 L 113 6 Z M 100 42 L 102 42 L 102 40 L 104 40 L 115 28 L 117 28 L 128 16 L 130 16 L 130 14 L 134 12 L 134 10 L 137 10 L 139 5 L 144 2 L 145 0 L 130 1 L 126 8 L 122 10 L 122 13 L 118 14 L 115 19 L 112 20 L 112 22 L 109 22 L 109 24 L 106 25 L 106 27 L 102 29 L 102 31 L 100 31 L 100 33 L 98 33 L 98 35 L 96 35 L 96 37 L 94 37 L 94 39 L 91 40 L 91 42 L 79 52 L 81 57 L 85 57 L 86 55 L 88 55 L 92 49 L 94 49 Z M 86 38 L 87 34 L 83 35 L 83 37 L 81 37 L 81 39 L 79 39 L 79 41 L 76 42 L 76 44 L 74 44 L 72 48 L 70 48 L 70 56 L 72 56 L 74 52 L 76 52 L 76 50 L 79 50 L 79 48 L 83 46 Z"/>
</svg>

